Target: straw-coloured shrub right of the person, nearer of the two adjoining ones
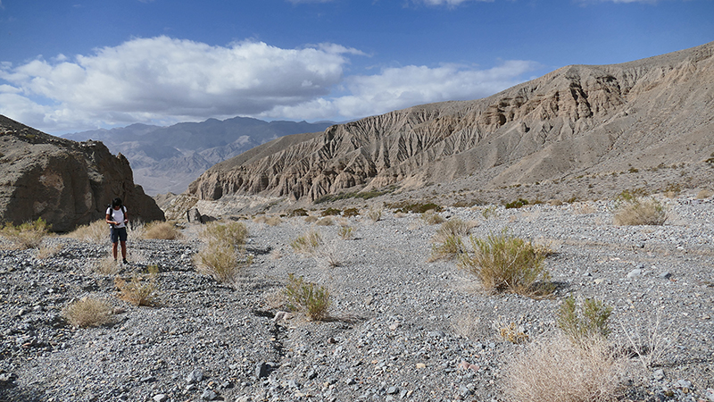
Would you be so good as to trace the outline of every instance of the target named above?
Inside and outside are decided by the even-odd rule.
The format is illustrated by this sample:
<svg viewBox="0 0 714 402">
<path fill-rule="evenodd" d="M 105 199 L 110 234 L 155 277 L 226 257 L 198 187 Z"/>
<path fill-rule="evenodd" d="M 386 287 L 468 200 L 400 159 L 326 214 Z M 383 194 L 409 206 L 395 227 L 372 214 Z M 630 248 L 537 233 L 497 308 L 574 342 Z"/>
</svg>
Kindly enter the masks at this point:
<svg viewBox="0 0 714 402">
<path fill-rule="evenodd" d="M 246 255 L 242 247 L 234 247 L 223 241 L 211 241 L 194 255 L 196 271 L 209 275 L 214 280 L 235 284 L 238 274 L 250 264 L 253 256 Z"/>
</svg>

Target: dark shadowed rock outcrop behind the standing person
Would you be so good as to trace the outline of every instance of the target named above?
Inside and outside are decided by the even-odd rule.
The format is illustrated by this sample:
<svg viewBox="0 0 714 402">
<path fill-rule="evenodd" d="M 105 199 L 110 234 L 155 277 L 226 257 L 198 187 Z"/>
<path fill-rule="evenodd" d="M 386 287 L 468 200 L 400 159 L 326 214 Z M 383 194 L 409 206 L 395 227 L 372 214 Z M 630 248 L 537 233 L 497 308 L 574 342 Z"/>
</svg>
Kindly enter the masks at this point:
<svg viewBox="0 0 714 402">
<path fill-rule="evenodd" d="M 54 231 L 104 219 L 121 197 L 129 217 L 163 220 L 154 199 L 134 184 L 129 161 L 101 142 L 78 143 L 0 116 L 0 222 L 43 218 Z"/>
</svg>

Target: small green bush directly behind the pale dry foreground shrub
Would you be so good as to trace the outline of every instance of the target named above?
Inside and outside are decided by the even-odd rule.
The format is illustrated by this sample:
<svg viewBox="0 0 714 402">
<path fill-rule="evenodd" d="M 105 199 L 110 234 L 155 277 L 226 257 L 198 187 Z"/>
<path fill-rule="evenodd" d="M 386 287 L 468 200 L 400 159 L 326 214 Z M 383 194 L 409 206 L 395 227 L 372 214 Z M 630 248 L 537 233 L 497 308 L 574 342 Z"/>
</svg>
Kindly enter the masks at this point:
<svg viewBox="0 0 714 402">
<path fill-rule="evenodd" d="M 605 306 L 600 300 L 588 298 L 582 306 L 577 306 L 575 297 L 570 295 L 560 306 L 556 322 L 571 340 L 582 343 L 596 337 L 607 338 L 611 313 L 612 307 Z"/>
</svg>

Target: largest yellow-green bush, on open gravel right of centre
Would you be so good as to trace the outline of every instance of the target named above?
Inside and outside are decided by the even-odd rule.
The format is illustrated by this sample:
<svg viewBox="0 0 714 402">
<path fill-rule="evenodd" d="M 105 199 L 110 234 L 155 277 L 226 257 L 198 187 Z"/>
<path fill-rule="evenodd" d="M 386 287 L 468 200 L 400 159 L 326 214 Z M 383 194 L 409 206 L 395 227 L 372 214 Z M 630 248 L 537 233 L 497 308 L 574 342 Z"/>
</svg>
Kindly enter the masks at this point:
<svg viewBox="0 0 714 402">
<path fill-rule="evenodd" d="M 552 292 L 544 255 L 535 252 L 530 241 L 508 234 L 486 239 L 470 238 L 473 254 L 460 255 L 461 267 L 474 273 L 486 290 L 510 291 L 523 295 Z"/>
</svg>

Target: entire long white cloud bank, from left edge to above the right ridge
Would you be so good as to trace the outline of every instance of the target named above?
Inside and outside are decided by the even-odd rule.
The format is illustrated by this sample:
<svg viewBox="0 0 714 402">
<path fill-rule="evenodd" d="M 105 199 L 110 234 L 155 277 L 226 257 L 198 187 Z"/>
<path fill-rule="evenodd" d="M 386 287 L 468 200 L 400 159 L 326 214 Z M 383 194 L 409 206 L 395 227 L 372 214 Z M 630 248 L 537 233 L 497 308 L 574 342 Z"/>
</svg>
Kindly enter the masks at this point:
<svg viewBox="0 0 714 402">
<path fill-rule="evenodd" d="M 340 121 L 488 96 L 536 67 L 410 65 L 345 77 L 351 55 L 364 54 L 336 44 L 282 49 L 137 38 L 89 55 L 0 63 L 0 114 L 49 132 L 237 115 Z"/>
</svg>

